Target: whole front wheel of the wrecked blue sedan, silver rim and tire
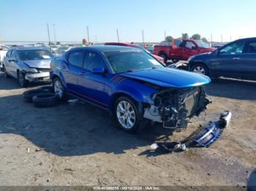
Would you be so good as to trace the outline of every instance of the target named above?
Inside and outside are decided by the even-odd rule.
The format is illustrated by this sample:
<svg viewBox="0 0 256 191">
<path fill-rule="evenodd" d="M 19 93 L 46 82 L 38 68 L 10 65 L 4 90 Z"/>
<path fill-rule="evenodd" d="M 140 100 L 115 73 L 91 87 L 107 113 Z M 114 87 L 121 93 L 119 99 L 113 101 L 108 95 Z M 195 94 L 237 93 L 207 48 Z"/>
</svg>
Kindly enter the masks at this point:
<svg viewBox="0 0 256 191">
<path fill-rule="evenodd" d="M 116 100 L 114 114 L 118 126 L 125 131 L 135 132 L 141 124 L 138 105 L 131 98 L 121 96 Z"/>
</svg>

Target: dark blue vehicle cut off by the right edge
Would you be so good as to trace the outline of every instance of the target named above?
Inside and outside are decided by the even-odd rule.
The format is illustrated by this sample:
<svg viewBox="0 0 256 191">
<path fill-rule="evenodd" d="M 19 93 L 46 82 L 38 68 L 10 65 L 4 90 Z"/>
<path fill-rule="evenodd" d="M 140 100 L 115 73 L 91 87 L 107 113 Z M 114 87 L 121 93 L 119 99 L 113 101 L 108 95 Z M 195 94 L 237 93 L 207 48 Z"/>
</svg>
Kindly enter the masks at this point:
<svg viewBox="0 0 256 191">
<path fill-rule="evenodd" d="M 256 79 L 256 38 L 238 39 L 189 58 L 188 68 L 209 77 Z"/>
</svg>

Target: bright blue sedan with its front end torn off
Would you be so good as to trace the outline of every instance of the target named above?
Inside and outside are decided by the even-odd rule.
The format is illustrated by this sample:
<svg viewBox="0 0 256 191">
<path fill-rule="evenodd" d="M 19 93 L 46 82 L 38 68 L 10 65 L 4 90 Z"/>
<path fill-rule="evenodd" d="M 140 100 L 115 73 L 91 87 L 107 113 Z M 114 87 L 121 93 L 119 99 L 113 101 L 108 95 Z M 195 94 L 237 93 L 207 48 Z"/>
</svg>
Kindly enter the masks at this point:
<svg viewBox="0 0 256 191">
<path fill-rule="evenodd" d="M 211 79 L 168 69 L 138 48 L 73 48 L 53 58 L 50 66 L 59 98 L 70 94 L 99 106 L 127 131 L 137 130 L 146 119 L 167 128 L 187 128 L 188 119 L 211 102 L 203 87 Z"/>
</svg>

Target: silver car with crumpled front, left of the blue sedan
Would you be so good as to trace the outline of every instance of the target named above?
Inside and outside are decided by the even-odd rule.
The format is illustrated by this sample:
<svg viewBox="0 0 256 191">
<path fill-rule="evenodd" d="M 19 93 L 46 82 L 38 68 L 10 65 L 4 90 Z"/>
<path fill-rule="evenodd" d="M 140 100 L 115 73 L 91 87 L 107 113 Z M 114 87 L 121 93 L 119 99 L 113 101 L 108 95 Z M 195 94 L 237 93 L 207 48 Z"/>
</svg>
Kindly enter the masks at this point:
<svg viewBox="0 0 256 191">
<path fill-rule="evenodd" d="M 29 82 L 50 81 L 50 61 L 53 55 L 42 47 L 15 47 L 4 58 L 5 77 L 15 77 L 22 87 Z"/>
</svg>

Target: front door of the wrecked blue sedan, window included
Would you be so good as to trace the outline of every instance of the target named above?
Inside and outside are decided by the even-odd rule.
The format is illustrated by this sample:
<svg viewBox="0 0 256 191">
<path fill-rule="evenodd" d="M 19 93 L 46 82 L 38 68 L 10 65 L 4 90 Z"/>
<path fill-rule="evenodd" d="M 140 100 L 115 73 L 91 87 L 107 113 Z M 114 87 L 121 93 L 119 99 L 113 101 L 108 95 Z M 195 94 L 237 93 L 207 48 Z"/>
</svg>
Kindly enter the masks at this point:
<svg viewBox="0 0 256 191">
<path fill-rule="evenodd" d="M 106 92 L 107 67 L 105 61 L 98 52 L 87 51 L 83 62 L 83 74 L 79 75 L 79 84 L 82 94 L 102 107 L 108 106 L 108 93 Z M 93 69 L 105 69 L 105 74 L 96 74 Z"/>
</svg>

